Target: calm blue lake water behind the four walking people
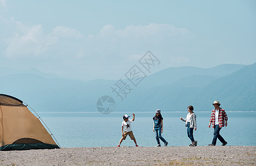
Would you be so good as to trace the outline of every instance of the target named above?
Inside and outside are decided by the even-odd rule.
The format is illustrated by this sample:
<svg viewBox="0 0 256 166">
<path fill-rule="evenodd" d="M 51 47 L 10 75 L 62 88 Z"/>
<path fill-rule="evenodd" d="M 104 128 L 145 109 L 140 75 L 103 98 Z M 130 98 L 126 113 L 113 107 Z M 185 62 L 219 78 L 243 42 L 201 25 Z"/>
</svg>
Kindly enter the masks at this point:
<svg viewBox="0 0 256 166">
<path fill-rule="evenodd" d="M 157 144 L 153 132 L 154 112 L 134 112 L 135 121 L 132 131 L 139 146 L 152 147 Z M 99 112 L 38 112 L 38 115 L 51 129 L 61 147 L 112 147 L 117 146 L 121 137 L 123 115 L 132 117 L 132 112 L 112 112 L 101 115 Z M 194 138 L 198 146 L 212 143 L 213 128 L 208 128 L 210 112 L 195 112 L 197 115 L 197 131 Z M 188 146 L 185 118 L 187 112 L 162 112 L 162 136 L 169 142 L 168 146 Z M 227 112 L 228 127 L 223 127 L 220 134 L 228 142 L 228 146 L 256 146 L 256 112 Z M 130 118 L 131 119 L 131 118 Z M 217 140 L 217 145 L 222 143 Z M 163 143 L 162 143 L 163 145 Z M 134 146 L 127 139 L 121 146 Z"/>
</svg>

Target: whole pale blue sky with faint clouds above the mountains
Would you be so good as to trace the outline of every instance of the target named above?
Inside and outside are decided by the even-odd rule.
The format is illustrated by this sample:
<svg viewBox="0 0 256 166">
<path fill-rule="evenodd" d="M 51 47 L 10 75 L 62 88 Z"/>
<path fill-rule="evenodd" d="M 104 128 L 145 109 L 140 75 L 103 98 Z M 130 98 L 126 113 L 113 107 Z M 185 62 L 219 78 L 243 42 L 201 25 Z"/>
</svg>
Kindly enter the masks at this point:
<svg viewBox="0 0 256 166">
<path fill-rule="evenodd" d="M 81 80 L 256 62 L 255 1 L 0 0 L 0 64 Z M 141 67 L 141 66 L 140 66 Z"/>
</svg>

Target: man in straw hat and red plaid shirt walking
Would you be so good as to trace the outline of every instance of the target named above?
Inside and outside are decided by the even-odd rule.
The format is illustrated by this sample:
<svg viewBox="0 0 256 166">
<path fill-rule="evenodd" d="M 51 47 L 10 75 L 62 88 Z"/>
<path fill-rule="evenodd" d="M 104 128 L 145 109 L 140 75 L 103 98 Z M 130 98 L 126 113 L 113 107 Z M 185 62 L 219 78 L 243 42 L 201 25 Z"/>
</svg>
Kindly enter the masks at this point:
<svg viewBox="0 0 256 166">
<path fill-rule="evenodd" d="M 215 107 L 212 110 L 212 115 L 210 115 L 210 123 L 208 127 L 210 128 L 210 125 L 212 124 L 212 127 L 214 128 L 213 133 L 213 142 L 212 144 L 208 144 L 209 146 L 215 146 L 217 142 L 217 138 L 220 142 L 222 142 L 222 146 L 225 146 L 227 142 L 225 139 L 220 136 L 219 131 L 222 129 L 222 127 L 227 127 L 228 125 L 228 116 L 227 113 L 223 108 L 220 108 L 219 101 L 214 101 L 213 106 Z"/>
</svg>

